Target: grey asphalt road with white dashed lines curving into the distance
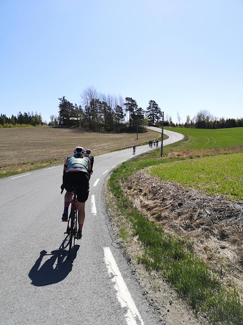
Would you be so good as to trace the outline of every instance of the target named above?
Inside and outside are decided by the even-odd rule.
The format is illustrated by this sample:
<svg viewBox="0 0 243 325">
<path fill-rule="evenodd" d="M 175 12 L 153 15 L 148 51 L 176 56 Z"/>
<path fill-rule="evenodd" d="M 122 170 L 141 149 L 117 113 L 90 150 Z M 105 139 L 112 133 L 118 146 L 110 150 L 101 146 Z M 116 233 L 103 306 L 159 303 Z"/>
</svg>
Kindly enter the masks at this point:
<svg viewBox="0 0 243 325">
<path fill-rule="evenodd" d="M 170 137 L 164 145 L 183 138 L 164 133 Z M 137 147 L 136 155 L 149 150 Z M 0 324 L 165 323 L 126 262 L 103 202 L 108 173 L 136 155 L 131 148 L 95 157 L 83 238 L 76 241 L 73 261 L 67 259 L 61 222 L 63 166 L 0 181 Z"/>
</svg>

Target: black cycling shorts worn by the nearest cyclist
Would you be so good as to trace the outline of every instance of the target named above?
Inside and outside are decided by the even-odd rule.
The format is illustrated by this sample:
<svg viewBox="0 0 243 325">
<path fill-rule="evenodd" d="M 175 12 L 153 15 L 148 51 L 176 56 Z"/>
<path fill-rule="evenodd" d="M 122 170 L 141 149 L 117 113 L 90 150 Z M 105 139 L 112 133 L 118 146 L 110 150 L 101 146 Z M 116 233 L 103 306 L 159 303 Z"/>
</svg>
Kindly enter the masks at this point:
<svg viewBox="0 0 243 325">
<path fill-rule="evenodd" d="M 89 197 L 89 175 L 85 172 L 68 172 L 65 174 L 64 187 L 67 192 L 77 186 L 77 201 L 86 202 Z"/>
</svg>

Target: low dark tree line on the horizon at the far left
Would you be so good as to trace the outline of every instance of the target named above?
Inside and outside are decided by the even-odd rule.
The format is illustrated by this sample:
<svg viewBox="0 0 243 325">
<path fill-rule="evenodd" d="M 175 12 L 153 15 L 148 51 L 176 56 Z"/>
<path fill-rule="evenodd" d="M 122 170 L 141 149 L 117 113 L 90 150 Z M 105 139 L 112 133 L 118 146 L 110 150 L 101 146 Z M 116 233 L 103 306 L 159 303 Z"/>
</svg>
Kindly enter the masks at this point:
<svg viewBox="0 0 243 325">
<path fill-rule="evenodd" d="M 12 114 L 11 117 L 7 117 L 5 114 L 0 115 L 0 127 L 17 127 L 17 126 L 26 126 L 26 125 L 43 125 L 41 113 L 35 114 L 31 112 L 21 112 L 18 113 L 17 117 Z"/>
</svg>

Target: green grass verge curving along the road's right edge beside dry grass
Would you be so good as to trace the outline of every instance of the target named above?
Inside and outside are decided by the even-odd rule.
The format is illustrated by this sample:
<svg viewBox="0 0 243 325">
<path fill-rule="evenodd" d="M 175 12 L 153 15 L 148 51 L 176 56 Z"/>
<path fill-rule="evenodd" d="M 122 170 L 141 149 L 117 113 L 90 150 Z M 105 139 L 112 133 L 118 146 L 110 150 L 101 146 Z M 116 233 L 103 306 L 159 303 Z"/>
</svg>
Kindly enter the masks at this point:
<svg viewBox="0 0 243 325">
<path fill-rule="evenodd" d="M 112 173 L 108 182 L 117 209 L 127 218 L 134 235 L 139 236 L 144 246 L 144 253 L 138 258 L 138 262 L 143 263 L 147 270 L 156 270 L 163 274 L 196 311 L 207 313 L 214 324 L 242 324 L 243 308 L 237 291 L 223 286 L 218 276 L 186 248 L 184 242 L 165 234 L 161 226 L 149 221 L 134 209 L 121 189 L 120 182 L 126 184 L 134 171 L 151 163 L 161 163 L 154 154 L 155 152 L 150 152 L 142 158 L 124 163 Z"/>
</svg>

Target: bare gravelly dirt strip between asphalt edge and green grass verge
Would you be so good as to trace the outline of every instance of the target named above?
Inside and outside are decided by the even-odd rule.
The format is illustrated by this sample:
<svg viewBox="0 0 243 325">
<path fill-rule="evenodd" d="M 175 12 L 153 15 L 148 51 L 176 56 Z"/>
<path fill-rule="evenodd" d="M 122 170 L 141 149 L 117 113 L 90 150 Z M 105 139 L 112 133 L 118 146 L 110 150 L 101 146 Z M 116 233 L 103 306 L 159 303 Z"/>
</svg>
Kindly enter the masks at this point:
<svg viewBox="0 0 243 325">
<path fill-rule="evenodd" d="M 128 224 L 127 219 L 119 213 L 112 193 L 106 188 L 107 212 L 111 219 L 112 228 L 117 240 L 123 249 L 124 255 L 137 280 L 144 290 L 144 295 L 149 300 L 154 311 L 160 316 L 161 325 L 206 325 L 204 317 L 195 315 L 190 307 L 178 296 L 165 279 L 156 272 L 148 272 L 142 264 L 137 263 L 136 256 L 141 255 L 143 247 Z M 126 224 L 130 238 L 126 241 L 119 236 L 121 227 Z"/>
</svg>

